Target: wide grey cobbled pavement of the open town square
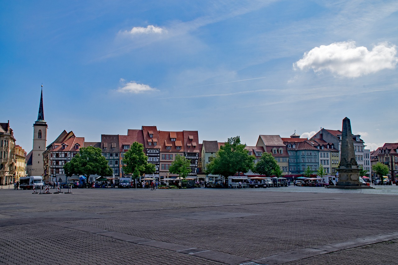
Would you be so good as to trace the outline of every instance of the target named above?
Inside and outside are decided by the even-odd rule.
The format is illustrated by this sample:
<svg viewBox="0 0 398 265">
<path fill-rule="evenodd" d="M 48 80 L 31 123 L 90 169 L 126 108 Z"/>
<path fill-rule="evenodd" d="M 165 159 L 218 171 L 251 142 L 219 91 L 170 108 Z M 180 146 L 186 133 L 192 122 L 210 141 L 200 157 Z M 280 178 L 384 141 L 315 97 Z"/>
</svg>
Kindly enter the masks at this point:
<svg viewBox="0 0 398 265">
<path fill-rule="evenodd" d="M 398 186 L 376 187 L 2 189 L 0 264 L 398 264 Z"/>
</svg>

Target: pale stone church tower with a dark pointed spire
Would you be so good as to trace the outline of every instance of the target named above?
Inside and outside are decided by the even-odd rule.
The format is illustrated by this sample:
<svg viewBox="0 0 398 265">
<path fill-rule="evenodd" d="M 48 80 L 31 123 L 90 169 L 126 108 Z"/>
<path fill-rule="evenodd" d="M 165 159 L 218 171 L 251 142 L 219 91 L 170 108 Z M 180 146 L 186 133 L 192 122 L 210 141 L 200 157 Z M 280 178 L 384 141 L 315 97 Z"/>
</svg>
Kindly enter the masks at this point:
<svg viewBox="0 0 398 265">
<path fill-rule="evenodd" d="M 37 121 L 33 124 L 33 150 L 32 150 L 32 165 L 29 175 L 41 176 L 44 175 L 43 152 L 46 150 L 47 143 L 47 123 L 44 120 L 43 111 L 43 86 L 41 86 L 41 96 L 39 105 L 39 114 Z"/>
</svg>

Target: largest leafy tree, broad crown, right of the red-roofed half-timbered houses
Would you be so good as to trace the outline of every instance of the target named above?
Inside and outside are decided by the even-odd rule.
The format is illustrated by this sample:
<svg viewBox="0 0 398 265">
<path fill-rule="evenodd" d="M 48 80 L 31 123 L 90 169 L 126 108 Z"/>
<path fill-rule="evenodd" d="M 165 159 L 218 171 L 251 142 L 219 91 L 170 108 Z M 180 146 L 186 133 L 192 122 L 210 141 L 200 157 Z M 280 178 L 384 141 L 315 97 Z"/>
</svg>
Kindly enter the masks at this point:
<svg viewBox="0 0 398 265">
<path fill-rule="evenodd" d="M 236 172 L 246 173 L 254 165 L 255 156 L 249 156 L 245 145 L 240 143 L 240 137 L 228 138 L 225 145 L 220 146 L 216 157 L 207 164 L 207 174 L 221 175 L 225 178 Z"/>
</svg>

